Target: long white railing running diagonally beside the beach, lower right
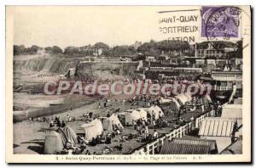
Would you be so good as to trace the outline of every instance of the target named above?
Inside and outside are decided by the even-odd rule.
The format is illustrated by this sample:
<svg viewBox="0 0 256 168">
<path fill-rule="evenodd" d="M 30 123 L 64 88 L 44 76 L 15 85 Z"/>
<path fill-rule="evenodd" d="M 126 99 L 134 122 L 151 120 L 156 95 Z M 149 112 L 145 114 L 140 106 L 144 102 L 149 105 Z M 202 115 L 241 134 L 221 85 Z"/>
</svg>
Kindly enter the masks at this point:
<svg viewBox="0 0 256 168">
<path fill-rule="evenodd" d="M 202 121 L 205 120 L 206 117 L 214 117 L 214 116 L 215 116 L 215 111 L 212 109 L 208 113 L 196 118 L 195 121 L 188 122 L 184 126 L 179 126 L 177 129 L 173 130 L 170 133 L 167 133 L 165 136 L 159 137 L 154 142 L 148 143 L 142 148 L 135 150 L 132 154 L 154 154 L 155 149 L 160 151 L 160 147 L 163 146 L 166 140 L 172 140 L 172 138 L 175 138 L 175 137 L 181 138 L 186 134 L 189 134 L 189 132 L 192 132 L 195 128 L 199 128 L 201 126 Z"/>
</svg>

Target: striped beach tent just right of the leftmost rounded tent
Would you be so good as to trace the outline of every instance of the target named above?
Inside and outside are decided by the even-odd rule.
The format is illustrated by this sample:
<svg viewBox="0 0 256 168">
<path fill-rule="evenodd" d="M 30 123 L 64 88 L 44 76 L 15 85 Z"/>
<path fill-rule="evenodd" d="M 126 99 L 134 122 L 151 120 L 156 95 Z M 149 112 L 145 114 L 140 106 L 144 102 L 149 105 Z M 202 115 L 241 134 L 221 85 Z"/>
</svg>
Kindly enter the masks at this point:
<svg viewBox="0 0 256 168">
<path fill-rule="evenodd" d="M 58 128 L 56 132 L 61 134 L 62 143 L 66 145 L 67 142 L 70 143 L 78 143 L 77 134 L 73 131 L 73 129 L 69 126 L 65 126 L 64 128 Z"/>
</svg>

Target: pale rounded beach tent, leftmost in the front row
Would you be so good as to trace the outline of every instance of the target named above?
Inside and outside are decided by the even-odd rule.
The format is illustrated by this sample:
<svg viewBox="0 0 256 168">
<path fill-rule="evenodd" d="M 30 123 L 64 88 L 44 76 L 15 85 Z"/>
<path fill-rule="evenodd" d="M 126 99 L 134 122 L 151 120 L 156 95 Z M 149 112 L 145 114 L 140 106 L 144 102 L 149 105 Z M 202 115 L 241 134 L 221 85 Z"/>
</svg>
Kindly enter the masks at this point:
<svg viewBox="0 0 256 168">
<path fill-rule="evenodd" d="M 44 154 L 56 154 L 64 147 L 61 134 L 55 131 L 48 132 L 44 139 Z"/>
</svg>

